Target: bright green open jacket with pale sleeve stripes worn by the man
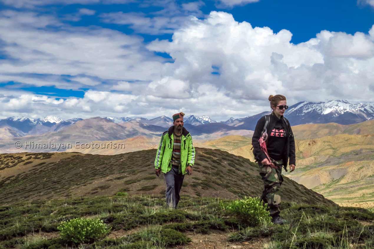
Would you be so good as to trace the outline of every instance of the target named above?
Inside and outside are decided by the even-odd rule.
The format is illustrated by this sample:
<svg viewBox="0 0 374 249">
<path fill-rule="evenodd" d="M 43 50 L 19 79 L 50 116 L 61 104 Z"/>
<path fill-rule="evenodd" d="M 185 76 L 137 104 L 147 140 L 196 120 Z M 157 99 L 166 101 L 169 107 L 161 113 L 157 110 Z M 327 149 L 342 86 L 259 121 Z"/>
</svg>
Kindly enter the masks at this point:
<svg viewBox="0 0 374 249">
<path fill-rule="evenodd" d="M 164 132 L 161 137 L 159 148 L 157 149 L 156 159 L 154 160 L 154 167 L 161 168 L 163 173 L 168 173 L 171 170 L 171 155 L 174 146 L 174 126 Z M 193 166 L 195 163 L 195 148 L 192 144 L 191 134 L 183 127 L 181 138 L 181 166 L 183 175 L 186 174 L 187 165 Z"/>
</svg>

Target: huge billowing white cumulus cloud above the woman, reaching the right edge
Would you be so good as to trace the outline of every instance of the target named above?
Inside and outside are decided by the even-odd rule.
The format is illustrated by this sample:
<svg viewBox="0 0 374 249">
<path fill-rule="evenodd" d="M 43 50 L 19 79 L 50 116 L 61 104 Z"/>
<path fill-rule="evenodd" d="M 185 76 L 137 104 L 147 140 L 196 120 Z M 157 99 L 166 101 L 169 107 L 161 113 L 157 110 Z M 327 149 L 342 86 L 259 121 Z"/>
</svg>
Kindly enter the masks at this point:
<svg viewBox="0 0 374 249">
<path fill-rule="evenodd" d="M 289 96 L 291 103 L 347 96 L 365 100 L 373 95 L 372 30 L 370 35 L 321 31 L 293 44 L 288 30 L 273 33 L 238 23 L 229 13 L 211 12 L 175 31 L 172 42 L 156 40 L 148 49 L 169 53 L 174 63 L 164 65 L 165 74 L 191 82 L 191 91 L 214 84 L 230 98 L 264 106 L 275 93 Z M 211 74 L 212 66 L 219 76 Z M 352 92 L 352 87 L 362 91 Z"/>
</svg>

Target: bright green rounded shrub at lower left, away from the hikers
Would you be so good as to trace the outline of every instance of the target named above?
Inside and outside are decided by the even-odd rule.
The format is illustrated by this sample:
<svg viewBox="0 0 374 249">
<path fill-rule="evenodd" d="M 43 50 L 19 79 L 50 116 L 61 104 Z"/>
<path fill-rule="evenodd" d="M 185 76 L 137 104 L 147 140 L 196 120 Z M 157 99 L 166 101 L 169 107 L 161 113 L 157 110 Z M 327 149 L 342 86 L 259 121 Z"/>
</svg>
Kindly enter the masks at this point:
<svg viewBox="0 0 374 249">
<path fill-rule="evenodd" d="M 92 242 L 101 239 L 110 231 L 101 219 L 91 218 L 62 221 L 57 229 L 61 231 L 61 239 L 74 243 Z"/>
</svg>

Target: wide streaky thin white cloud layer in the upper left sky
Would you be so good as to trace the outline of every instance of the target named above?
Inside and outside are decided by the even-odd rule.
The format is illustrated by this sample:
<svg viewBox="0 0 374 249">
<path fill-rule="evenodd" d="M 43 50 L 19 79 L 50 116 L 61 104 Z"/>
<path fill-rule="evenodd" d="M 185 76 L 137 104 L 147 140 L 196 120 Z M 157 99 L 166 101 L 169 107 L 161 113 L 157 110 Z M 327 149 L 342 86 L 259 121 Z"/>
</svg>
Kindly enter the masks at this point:
<svg viewBox="0 0 374 249">
<path fill-rule="evenodd" d="M 48 74 L 153 80 L 163 61 L 145 49 L 140 37 L 104 28 L 70 27 L 35 13 L 0 12 L 0 39 L 8 57 L 2 60 L 0 74 L 13 77 Z M 29 83 L 25 77 L 22 82 Z"/>
</svg>

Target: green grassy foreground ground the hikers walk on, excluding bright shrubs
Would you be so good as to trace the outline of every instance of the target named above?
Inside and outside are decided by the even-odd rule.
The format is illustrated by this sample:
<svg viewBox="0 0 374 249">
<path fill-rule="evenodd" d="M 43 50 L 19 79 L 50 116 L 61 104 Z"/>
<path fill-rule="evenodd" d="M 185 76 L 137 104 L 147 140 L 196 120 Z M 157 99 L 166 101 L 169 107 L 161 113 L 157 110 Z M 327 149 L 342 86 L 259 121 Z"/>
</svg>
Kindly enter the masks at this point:
<svg viewBox="0 0 374 249">
<path fill-rule="evenodd" d="M 0 206 L 0 248 L 22 249 L 282 249 L 374 246 L 374 213 L 359 208 L 283 203 L 285 225 L 248 225 L 224 208 L 229 200 L 182 197 L 169 209 L 155 196 L 82 197 Z M 58 225 L 100 219 L 104 239 L 74 244 Z"/>
</svg>

